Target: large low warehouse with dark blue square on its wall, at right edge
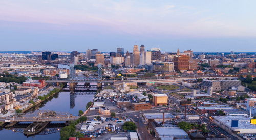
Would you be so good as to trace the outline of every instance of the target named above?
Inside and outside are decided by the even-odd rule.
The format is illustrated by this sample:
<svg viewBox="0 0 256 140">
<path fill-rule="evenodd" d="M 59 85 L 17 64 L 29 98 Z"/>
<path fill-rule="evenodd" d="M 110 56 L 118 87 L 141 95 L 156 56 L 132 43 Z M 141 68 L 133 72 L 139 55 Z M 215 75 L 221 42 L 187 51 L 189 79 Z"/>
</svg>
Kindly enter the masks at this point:
<svg viewBox="0 0 256 140">
<path fill-rule="evenodd" d="M 234 134 L 255 133 L 256 125 L 251 119 L 243 116 L 212 116 L 213 121 L 225 130 Z"/>
</svg>

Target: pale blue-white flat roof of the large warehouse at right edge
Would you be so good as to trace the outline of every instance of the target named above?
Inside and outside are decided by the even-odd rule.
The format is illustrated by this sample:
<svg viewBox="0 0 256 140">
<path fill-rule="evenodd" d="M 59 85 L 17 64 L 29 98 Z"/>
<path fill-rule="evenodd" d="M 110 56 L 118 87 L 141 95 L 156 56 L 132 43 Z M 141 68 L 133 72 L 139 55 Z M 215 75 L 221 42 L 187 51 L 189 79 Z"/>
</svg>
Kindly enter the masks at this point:
<svg viewBox="0 0 256 140">
<path fill-rule="evenodd" d="M 231 128 L 231 120 L 238 120 L 238 127 L 237 129 L 255 129 L 256 125 L 250 124 L 250 118 L 243 117 L 243 116 L 212 116 L 217 120 L 225 122 L 227 126 Z"/>
</svg>

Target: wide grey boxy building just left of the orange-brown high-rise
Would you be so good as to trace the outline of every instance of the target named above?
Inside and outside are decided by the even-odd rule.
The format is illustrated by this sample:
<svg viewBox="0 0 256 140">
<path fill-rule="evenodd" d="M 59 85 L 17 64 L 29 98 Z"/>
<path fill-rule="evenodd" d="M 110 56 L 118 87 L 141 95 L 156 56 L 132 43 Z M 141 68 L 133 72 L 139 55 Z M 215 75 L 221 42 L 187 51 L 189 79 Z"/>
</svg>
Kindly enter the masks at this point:
<svg viewBox="0 0 256 140">
<path fill-rule="evenodd" d="M 171 72 L 174 71 L 173 62 L 152 62 L 152 70 L 156 72 Z"/>
</svg>

